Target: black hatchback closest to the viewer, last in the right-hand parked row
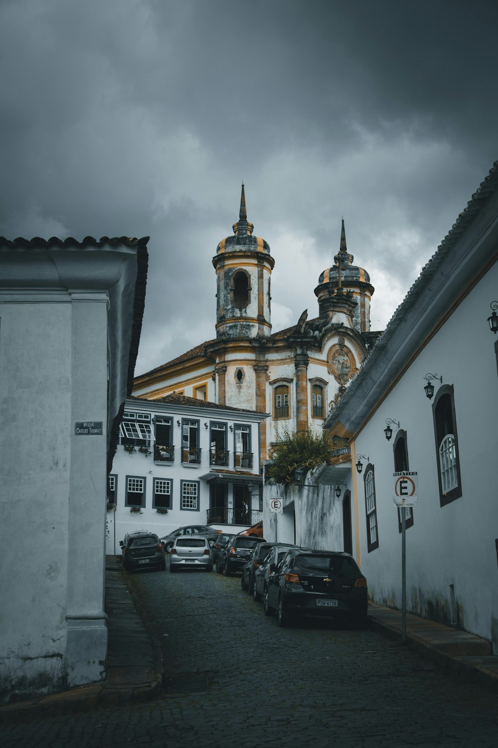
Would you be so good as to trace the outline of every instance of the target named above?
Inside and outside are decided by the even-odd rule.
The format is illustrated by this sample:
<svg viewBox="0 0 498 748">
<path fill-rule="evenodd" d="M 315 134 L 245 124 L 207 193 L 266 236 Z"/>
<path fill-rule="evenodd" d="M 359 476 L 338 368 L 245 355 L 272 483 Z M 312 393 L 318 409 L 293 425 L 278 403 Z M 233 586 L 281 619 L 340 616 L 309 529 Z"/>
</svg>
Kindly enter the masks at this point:
<svg viewBox="0 0 498 748">
<path fill-rule="evenodd" d="M 294 616 L 366 625 L 367 580 L 349 554 L 294 548 L 270 570 L 263 604 L 265 613 L 278 613 L 279 626 L 288 625 Z"/>
</svg>

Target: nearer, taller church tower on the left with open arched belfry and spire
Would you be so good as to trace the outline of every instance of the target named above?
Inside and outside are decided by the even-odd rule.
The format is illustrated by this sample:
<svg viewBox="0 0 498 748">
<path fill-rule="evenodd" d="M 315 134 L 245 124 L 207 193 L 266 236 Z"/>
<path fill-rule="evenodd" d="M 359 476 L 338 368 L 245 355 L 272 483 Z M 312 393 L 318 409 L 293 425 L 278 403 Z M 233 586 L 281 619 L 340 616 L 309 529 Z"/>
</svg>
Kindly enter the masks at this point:
<svg viewBox="0 0 498 748">
<path fill-rule="evenodd" d="M 213 258 L 217 273 L 218 338 L 261 339 L 271 334 L 270 275 L 275 260 L 270 255 L 270 245 L 254 236 L 253 230 L 247 220 L 242 185 L 234 236 L 222 239 Z"/>
</svg>

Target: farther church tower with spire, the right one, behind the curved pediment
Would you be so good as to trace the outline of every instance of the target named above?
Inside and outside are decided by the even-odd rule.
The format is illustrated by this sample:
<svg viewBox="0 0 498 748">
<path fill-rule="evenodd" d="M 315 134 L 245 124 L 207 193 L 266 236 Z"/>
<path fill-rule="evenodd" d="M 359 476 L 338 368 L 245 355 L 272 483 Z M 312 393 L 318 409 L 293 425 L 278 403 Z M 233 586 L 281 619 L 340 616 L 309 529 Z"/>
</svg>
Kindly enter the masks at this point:
<svg viewBox="0 0 498 748">
<path fill-rule="evenodd" d="M 334 257 L 336 264 L 323 271 L 314 292 L 318 298 L 321 317 L 333 314 L 340 298 L 346 298 L 347 295 L 354 300 L 356 304 L 351 311 L 352 324 L 358 332 L 364 333 L 370 331 L 370 298 L 375 289 L 367 271 L 352 264 L 354 259 L 347 251 L 343 219 L 339 252 Z"/>
</svg>

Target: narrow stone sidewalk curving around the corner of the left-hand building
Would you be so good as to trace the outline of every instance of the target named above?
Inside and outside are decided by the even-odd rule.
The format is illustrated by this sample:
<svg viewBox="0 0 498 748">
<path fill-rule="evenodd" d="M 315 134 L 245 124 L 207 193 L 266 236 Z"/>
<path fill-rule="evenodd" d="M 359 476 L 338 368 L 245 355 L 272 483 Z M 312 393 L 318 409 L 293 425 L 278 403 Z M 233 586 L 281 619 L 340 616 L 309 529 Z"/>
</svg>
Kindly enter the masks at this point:
<svg viewBox="0 0 498 748">
<path fill-rule="evenodd" d="M 53 717 L 133 700 L 162 691 L 161 649 L 153 643 L 119 561 L 105 559 L 105 612 L 108 614 L 108 669 L 105 681 L 0 707 L 0 723 L 33 716 Z"/>
</svg>

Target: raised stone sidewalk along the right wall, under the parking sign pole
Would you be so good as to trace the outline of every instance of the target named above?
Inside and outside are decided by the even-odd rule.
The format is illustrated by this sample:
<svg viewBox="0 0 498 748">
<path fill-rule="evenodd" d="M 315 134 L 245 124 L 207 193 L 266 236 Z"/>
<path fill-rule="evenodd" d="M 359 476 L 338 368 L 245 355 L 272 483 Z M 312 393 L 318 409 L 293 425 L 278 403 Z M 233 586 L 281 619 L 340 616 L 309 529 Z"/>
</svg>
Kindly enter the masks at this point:
<svg viewBox="0 0 498 748">
<path fill-rule="evenodd" d="M 370 603 L 368 617 L 373 631 L 402 642 L 401 610 Z M 406 643 L 444 669 L 498 690 L 498 657 L 488 640 L 407 613 Z"/>
</svg>

